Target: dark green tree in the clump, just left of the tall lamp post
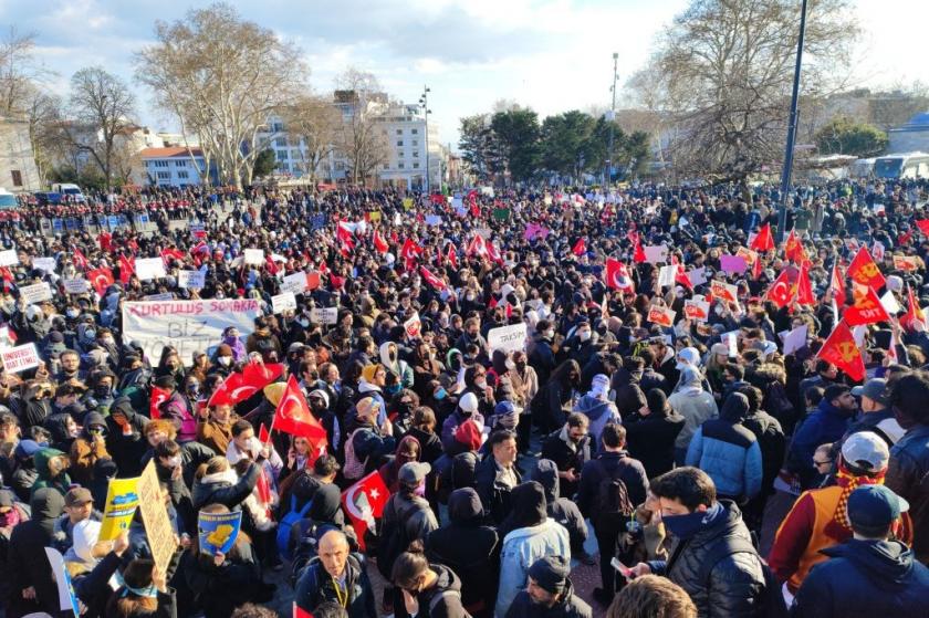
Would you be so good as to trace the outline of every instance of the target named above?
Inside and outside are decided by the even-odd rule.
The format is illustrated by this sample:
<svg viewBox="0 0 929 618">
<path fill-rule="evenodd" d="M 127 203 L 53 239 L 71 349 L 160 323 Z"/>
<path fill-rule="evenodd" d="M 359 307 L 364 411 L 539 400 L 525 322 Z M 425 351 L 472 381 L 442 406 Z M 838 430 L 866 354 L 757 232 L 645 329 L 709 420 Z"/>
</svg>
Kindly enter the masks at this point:
<svg viewBox="0 0 929 618">
<path fill-rule="evenodd" d="M 573 109 L 542 123 L 541 151 L 545 169 L 578 179 L 594 158 L 596 121 Z"/>
</svg>

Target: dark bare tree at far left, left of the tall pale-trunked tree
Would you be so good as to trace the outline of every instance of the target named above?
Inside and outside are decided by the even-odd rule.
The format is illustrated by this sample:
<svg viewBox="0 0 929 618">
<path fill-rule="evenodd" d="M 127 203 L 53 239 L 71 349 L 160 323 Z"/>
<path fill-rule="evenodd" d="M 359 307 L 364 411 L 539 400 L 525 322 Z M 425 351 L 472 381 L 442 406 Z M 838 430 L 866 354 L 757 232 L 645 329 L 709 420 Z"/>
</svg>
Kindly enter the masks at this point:
<svg viewBox="0 0 929 618">
<path fill-rule="evenodd" d="M 73 123 L 63 125 L 64 137 L 86 153 L 112 187 L 117 140 L 134 130 L 135 96 L 128 86 L 100 66 L 82 69 L 71 77 L 69 111 Z"/>
</svg>

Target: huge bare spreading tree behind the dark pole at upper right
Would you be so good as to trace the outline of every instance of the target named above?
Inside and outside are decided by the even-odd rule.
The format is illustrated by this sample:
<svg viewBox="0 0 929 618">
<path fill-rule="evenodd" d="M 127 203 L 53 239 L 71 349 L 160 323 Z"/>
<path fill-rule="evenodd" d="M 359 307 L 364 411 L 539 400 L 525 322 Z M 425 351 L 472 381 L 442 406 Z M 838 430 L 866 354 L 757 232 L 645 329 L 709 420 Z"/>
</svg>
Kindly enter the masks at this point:
<svg viewBox="0 0 929 618">
<path fill-rule="evenodd" d="M 853 15 L 847 0 L 810 0 L 805 95 L 843 85 Z M 741 181 L 781 160 L 798 22 L 793 0 L 693 0 L 665 30 L 630 84 L 670 119 L 677 171 Z"/>
</svg>

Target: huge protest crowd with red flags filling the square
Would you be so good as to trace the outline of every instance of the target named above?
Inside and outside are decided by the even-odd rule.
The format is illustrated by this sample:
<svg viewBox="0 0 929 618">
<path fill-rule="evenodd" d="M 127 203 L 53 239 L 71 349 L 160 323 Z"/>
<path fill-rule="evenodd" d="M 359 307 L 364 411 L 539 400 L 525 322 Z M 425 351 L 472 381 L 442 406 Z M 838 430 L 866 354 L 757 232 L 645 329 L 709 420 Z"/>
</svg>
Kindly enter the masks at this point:
<svg viewBox="0 0 929 618">
<path fill-rule="evenodd" d="M 0 373 L 0 606 L 925 617 L 928 190 L 801 187 L 784 242 L 765 185 L 23 200 L 0 218 L 0 355 L 38 358 Z M 115 213 L 152 229 L 85 224 Z M 258 315 L 152 353 L 127 312 L 170 300 Z M 153 468 L 155 504 L 102 533 Z M 209 545 L 203 515 L 237 513 Z"/>
</svg>

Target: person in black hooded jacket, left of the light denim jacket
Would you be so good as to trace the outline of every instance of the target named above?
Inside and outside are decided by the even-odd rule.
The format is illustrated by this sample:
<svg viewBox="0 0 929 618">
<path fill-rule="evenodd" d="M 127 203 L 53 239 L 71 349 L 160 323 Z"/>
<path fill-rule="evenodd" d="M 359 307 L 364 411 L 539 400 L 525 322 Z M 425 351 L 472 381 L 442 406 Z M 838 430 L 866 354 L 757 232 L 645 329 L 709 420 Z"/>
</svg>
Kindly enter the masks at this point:
<svg viewBox="0 0 929 618">
<path fill-rule="evenodd" d="M 461 604 L 472 616 L 489 616 L 497 597 L 500 538 L 488 525 L 478 492 L 462 488 L 448 499 L 449 523 L 426 537 L 426 557 L 461 578 Z"/>
</svg>

